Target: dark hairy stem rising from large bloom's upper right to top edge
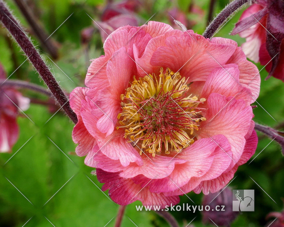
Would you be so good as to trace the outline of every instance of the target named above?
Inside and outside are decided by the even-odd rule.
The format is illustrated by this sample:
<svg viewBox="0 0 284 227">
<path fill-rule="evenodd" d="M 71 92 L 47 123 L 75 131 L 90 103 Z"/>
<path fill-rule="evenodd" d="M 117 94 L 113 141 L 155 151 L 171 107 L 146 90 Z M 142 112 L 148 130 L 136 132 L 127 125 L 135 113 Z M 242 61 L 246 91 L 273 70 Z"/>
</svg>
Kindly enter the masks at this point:
<svg viewBox="0 0 284 227">
<path fill-rule="evenodd" d="M 235 0 L 229 3 L 225 9 L 223 9 L 218 16 L 210 23 L 210 25 L 206 28 L 205 32 L 203 33 L 203 36 L 205 38 L 212 38 L 218 27 L 220 27 L 227 18 L 235 12 L 238 8 L 246 4 L 251 0 Z"/>
</svg>

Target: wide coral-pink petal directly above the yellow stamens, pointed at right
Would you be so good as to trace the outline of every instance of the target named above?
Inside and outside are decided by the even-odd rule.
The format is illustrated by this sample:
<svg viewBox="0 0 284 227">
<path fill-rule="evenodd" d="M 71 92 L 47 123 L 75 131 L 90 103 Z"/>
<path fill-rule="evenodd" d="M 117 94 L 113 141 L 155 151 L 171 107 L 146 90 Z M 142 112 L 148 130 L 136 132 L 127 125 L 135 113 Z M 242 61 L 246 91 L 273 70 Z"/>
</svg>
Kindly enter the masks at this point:
<svg viewBox="0 0 284 227">
<path fill-rule="evenodd" d="M 192 31 L 174 30 L 150 40 L 143 56 L 135 61 L 148 73 L 169 67 L 189 77 L 190 82 L 205 81 L 211 70 L 227 62 L 235 49 L 236 46 L 229 43 L 210 43 Z M 141 70 L 140 73 L 144 74 Z"/>
</svg>

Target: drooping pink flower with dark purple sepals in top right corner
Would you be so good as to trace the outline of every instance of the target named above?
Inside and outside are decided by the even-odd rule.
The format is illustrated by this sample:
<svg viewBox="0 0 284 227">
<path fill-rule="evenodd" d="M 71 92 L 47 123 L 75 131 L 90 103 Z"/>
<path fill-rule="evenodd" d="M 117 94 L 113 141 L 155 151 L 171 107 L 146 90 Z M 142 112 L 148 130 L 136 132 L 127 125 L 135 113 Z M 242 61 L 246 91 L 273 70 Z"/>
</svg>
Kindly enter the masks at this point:
<svg viewBox="0 0 284 227">
<path fill-rule="evenodd" d="M 231 35 L 246 38 L 246 56 L 266 65 L 269 76 L 284 82 L 284 2 L 256 0 L 241 15 Z"/>
</svg>

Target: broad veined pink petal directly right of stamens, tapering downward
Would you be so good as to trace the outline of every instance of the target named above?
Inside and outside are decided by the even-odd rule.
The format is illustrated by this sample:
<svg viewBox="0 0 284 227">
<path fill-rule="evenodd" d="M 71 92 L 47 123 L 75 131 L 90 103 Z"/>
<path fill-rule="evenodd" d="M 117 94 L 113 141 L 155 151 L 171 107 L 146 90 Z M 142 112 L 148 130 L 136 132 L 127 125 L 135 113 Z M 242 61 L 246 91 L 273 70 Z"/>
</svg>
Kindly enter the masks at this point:
<svg viewBox="0 0 284 227">
<path fill-rule="evenodd" d="M 224 135 L 231 145 L 231 167 L 233 167 L 243 153 L 246 143 L 244 137 L 251 127 L 253 117 L 251 106 L 247 106 L 243 100 L 212 93 L 207 100 L 207 108 L 205 113 L 207 120 L 200 123 L 202 130 L 197 138 Z"/>
</svg>

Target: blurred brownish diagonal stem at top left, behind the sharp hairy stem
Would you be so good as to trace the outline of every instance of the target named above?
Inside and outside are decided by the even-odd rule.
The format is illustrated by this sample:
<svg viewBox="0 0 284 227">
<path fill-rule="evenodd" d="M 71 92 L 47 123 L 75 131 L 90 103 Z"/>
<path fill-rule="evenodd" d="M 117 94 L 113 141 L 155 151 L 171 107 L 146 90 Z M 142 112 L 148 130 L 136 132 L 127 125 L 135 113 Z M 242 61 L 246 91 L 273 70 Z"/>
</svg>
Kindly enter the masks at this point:
<svg viewBox="0 0 284 227">
<path fill-rule="evenodd" d="M 14 1 L 20 8 L 27 22 L 29 22 L 30 26 L 33 29 L 33 32 L 40 40 L 42 46 L 46 49 L 46 51 L 48 51 L 48 53 L 52 56 L 53 59 L 56 59 L 58 57 L 58 50 L 56 43 L 51 38 L 48 39 L 46 31 L 37 22 L 33 12 L 29 9 L 27 3 L 23 0 L 14 0 Z"/>
</svg>

